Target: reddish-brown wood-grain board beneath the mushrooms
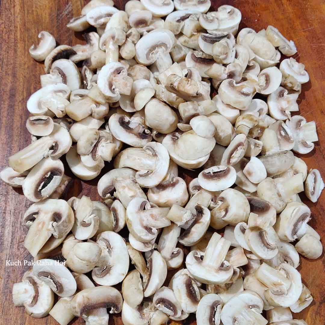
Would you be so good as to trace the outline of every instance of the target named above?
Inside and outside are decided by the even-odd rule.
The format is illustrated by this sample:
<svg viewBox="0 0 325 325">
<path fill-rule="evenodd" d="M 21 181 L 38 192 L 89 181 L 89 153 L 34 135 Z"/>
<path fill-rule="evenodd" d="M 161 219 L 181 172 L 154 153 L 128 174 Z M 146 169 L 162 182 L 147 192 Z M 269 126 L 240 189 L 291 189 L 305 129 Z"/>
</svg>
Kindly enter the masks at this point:
<svg viewBox="0 0 325 325">
<path fill-rule="evenodd" d="M 86 0 L 0 0 L 0 169 L 8 164 L 13 153 L 31 141 L 25 121 L 29 116 L 26 101 L 40 88 L 43 64 L 34 61 L 29 47 L 37 43 L 37 35 L 46 30 L 52 33 L 59 44 L 84 43 L 81 34 L 66 28 L 73 16 L 80 15 Z M 302 158 L 309 168 L 317 168 L 325 176 L 325 4 L 323 0 L 234 0 L 212 1 L 213 7 L 223 4 L 236 6 L 242 13 L 240 28 L 255 30 L 276 26 L 284 35 L 294 40 L 298 53 L 294 58 L 306 66 L 310 82 L 303 85 L 299 96 L 300 113 L 307 121 L 317 122 L 319 141 L 315 149 Z M 123 9 L 124 1 L 116 1 Z M 69 172 L 67 172 L 68 175 Z M 185 172 L 187 178 L 195 175 Z M 90 196 L 99 200 L 97 181 L 74 180 L 65 198 L 72 195 Z M 303 201 L 311 208 L 313 226 L 321 238 L 325 235 L 325 191 L 317 203 Z M 57 324 L 51 318 L 36 319 L 27 316 L 24 308 L 15 308 L 11 300 L 12 285 L 20 282 L 28 266 L 6 266 L 6 260 L 31 260 L 23 247 L 26 229 L 21 226 L 21 217 L 31 204 L 20 189 L 0 184 L 0 325 Z M 303 318 L 312 325 L 325 323 L 325 258 L 324 254 L 314 261 L 301 258 L 298 270 L 303 282 L 314 297 L 312 304 L 295 318 Z M 120 315 L 110 317 L 110 324 L 122 324 Z M 73 324 L 84 324 L 75 319 Z M 184 324 L 195 323 L 192 314 Z"/>
</svg>

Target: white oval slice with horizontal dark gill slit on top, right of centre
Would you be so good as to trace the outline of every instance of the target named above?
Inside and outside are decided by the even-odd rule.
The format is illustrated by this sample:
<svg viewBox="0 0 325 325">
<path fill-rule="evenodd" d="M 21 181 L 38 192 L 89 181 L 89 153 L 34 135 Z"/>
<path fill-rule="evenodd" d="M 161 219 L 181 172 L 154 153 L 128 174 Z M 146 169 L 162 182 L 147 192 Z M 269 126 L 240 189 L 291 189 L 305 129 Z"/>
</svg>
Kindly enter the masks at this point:
<svg viewBox="0 0 325 325">
<path fill-rule="evenodd" d="M 214 166 L 203 170 L 198 176 L 199 184 L 208 191 L 223 191 L 236 181 L 236 170 L 232 166 Z"/>
</svg>

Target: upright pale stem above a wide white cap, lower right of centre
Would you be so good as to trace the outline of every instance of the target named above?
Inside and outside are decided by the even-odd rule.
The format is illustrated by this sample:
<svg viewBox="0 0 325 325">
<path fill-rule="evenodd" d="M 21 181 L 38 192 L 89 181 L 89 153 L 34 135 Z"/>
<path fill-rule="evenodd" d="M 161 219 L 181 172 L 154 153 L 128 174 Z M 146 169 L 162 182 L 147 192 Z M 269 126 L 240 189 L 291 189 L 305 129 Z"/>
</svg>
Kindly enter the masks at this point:
<svg viewBox="0 0 325 325">
<path fill-rule="evenodd" d="M 203 257 L 204 265 L 219 268 L 225 260 L 231 242 L 222 238 L 218 233 L 211 237 Z"/>
</svg>

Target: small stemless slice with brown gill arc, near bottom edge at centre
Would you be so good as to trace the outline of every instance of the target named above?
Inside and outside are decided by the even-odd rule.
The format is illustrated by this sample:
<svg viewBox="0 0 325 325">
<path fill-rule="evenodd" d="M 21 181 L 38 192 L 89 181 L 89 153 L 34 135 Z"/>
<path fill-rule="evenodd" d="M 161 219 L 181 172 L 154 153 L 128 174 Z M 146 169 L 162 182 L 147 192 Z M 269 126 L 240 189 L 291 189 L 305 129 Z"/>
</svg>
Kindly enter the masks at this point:
<svg viewBox="0 0 325 325">
<path fill-rule="evenodd" d="M 178 318 L 181 316 L 182 307 L 177 301 L 172 289 L 161 287 L 153 296 L 152 299 L 155 307 L 168 316 Z"/>
</svg>

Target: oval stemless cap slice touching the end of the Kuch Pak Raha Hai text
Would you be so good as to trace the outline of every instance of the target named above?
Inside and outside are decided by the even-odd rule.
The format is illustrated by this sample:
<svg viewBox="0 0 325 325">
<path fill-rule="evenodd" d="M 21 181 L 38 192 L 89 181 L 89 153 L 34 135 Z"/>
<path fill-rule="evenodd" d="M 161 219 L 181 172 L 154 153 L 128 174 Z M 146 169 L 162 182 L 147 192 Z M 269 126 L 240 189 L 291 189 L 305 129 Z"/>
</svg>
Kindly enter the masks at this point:
<svg viewBox="0 0 325 325">
<path fill-rule="evenodd" d="M 63 264 L 42 259 L 33 266 L 34 276 L 45 282 L 59 297 L 70 297 L 77 289 L 76 280 Z"/>
</svg>

